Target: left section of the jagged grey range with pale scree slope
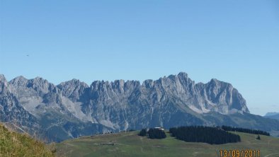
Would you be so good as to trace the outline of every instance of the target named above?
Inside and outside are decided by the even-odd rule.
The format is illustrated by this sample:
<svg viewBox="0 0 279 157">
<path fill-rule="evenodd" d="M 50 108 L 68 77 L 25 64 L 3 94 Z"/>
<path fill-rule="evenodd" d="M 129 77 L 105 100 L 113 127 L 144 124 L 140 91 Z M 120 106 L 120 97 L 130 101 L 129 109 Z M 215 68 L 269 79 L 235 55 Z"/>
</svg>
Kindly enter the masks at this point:
<svg viewBox="0 0 279 157">
<path fill-rule="evenodd" d="M 4 76 L 2 76 L 4 78 Z M 108 132 L 101 124 L 84 120 L 79 103 L 64 97 L 59 88 L 42 78 L 19 76 L 9 83 L 1 79 L 2 122 L 20 122 L 23 128 L 40 131 L 47 141 L 61 141 L 84 134 Z M 4 89 L 4 90 L 3 90 Z"/>
</svg>

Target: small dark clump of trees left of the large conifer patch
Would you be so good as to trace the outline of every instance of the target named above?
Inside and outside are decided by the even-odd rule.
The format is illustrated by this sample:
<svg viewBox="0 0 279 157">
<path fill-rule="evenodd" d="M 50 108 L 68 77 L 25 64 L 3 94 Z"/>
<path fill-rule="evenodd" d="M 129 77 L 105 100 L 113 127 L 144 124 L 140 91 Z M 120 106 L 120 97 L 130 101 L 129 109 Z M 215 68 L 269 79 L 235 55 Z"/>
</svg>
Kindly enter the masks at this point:
<svg viewBox="0 0 279 157">
<path fill-rule="evenodd" d="M 142 129 L 139 132 L 139 136 L 149 136 L 150 139 L 164 139 L 166 138 L 166 133 L 162 129 L 155 129 L 155 128 L 150 128 L 148 129 Z"/>
</svg>

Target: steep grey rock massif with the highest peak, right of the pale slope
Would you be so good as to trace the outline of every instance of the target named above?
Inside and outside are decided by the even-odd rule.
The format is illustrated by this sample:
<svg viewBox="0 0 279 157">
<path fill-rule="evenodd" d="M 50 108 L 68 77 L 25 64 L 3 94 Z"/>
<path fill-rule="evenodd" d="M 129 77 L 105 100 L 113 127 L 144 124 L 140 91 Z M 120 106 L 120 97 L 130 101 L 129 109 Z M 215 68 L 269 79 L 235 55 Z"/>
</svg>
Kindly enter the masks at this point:
<svg viewBox="0 0 279 157">
<path fill-rule="evenodd" d="M 79 87 L 80 85 L 76 85 Z M 67 88 L 61 88 L 62 93 Z M 195 84 L 186 73 L 156 81 L 95 81 L 76 100 L 93 122 L 112 129 L 169 125 L 181 112 L 249 112 L 244 98 L 229 83 L 212 79 Z M 193 110 L 193 111 L 191 111 Z M 182 114 L 181 114 L 182 116 Z M 176 123 L 176 122 L 173 122 Z"/>
</svg>

